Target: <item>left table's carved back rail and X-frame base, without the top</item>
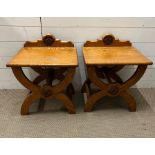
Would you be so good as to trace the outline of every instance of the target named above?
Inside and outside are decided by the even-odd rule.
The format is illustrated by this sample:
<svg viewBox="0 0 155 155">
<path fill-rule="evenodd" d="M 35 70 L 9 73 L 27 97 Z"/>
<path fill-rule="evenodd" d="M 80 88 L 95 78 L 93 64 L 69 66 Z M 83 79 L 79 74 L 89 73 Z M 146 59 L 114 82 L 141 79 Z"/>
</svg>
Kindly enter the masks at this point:
<svg viewBox="0 0 155 155">
<path fill-rule="evenodd" d="M 72 42 L 63 42 L 56 40 L 53 35 L 46 35 L 43 39 L 36 42 L 27 41 L 24 47 L 74 47 Z M 25 98 L 22 107 L 21 115 L 29 114 L 29 108 L 31 104 L 40 99 L 39 109 L 43 109 L 44 102 L 46 99 L 58 99 L 64 103 L 64 106 L 70 114 L 75 114 L 75 104 L 71 101 L 72 95 L 75 90 L 72 85 L 72 80 L 75 75 L 76 66 L 59 66 L 59 67 L 46 67 L 46 66 L 29 66 L 39 75 L 33 80 L 29 80 L 22 70 L 22 66 L 10 65 L 16 79 L 27 89 L 30 90 L 27 97 Z M 66 73 L 66 75 L 64 75 Z M 52 85 L 54 80 L 60 82 L 56 85 Z M 40 86 L 39 84 L 46 80 L 46 84 Z M 66 90 L 66 94 L 65 91 Z"/>
</svg>

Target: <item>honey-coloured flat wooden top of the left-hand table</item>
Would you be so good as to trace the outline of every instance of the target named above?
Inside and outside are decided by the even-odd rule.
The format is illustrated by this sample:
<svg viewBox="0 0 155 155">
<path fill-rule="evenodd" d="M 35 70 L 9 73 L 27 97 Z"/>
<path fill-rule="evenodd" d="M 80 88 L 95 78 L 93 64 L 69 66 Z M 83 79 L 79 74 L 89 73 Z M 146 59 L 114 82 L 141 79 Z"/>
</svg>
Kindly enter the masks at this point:
<svg viewBox="0 0 155 155">
<path fill-rule="evenodd" d="M 77 66 L 74 47 L 24 47 L 7 64 L 12 66 Z"/>
</svg>

